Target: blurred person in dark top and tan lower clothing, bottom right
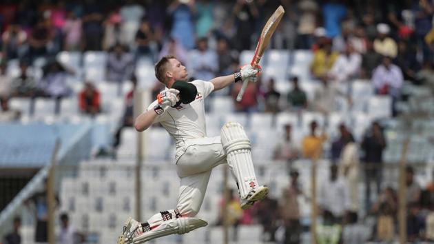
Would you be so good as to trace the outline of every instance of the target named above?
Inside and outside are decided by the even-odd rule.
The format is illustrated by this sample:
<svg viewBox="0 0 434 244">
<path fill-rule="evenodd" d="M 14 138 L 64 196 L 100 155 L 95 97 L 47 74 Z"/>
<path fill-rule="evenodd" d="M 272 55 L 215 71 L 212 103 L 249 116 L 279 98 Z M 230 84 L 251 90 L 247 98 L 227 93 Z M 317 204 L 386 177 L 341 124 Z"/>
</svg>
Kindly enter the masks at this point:
<svg viewBox="0 0 434 244">
<path fill-rule="evenodd" d="M 375 239 L 392 241 L 395 238 L 395 221 L 397 214 L 397 195 L 392 187 L 386 187 L 373 204 L 371 213 L 376 215 Z"/>
</svg>

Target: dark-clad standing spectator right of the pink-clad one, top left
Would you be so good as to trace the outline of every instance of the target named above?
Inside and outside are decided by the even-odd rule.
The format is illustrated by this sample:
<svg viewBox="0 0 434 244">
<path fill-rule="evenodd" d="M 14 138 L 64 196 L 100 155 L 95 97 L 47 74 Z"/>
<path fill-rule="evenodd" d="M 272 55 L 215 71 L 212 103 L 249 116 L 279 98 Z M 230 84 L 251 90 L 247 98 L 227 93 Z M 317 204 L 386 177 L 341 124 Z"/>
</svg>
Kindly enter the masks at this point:
<svg viewBox="0 0 434 244">
<path fill-rule="evenodd" d="M 95 0 L 86 1 L 83 8 L 83 47 L 85 51 L 101 50 L 103 12 Z"/>
</svg>

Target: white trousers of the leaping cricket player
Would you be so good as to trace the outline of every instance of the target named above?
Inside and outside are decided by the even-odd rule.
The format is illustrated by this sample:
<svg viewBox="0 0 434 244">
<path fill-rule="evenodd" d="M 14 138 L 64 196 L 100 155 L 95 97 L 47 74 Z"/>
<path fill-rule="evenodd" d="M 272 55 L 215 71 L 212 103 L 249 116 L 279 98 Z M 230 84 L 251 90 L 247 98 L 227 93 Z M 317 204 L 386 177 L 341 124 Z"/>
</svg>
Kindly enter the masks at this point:
<svg viewBox="0 0 434 244">
<path fill-rule="evenodd" d="M 213 167 L 227 163 L 220 136 L 189 139 L 176 150 L 176 172 L 180 178 L 176 210 L 183 217 L 196 216 L 203 203 Z M 153 229 L 165 221 L 166 215 L 176 216 L 175 210 L 154 214 L 147 224 Z"/>
</svg>

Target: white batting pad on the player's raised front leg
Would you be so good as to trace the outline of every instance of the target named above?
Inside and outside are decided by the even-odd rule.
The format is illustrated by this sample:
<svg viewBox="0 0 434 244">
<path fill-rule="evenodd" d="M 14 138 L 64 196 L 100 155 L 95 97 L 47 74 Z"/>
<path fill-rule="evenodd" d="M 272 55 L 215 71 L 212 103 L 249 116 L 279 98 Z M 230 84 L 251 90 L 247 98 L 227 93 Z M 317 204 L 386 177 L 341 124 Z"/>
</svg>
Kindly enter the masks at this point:
<svg viewBox="0 0 434 244">
<path fill-rule="evenodd" d="M 251 161 L 250 140 L 239 123 L 229 122 L 220 132 L 227 164 L 238 183 L 240 198 L 245 199 L 251 190 L 258 187 L 253 162 Z"/>
</svg>

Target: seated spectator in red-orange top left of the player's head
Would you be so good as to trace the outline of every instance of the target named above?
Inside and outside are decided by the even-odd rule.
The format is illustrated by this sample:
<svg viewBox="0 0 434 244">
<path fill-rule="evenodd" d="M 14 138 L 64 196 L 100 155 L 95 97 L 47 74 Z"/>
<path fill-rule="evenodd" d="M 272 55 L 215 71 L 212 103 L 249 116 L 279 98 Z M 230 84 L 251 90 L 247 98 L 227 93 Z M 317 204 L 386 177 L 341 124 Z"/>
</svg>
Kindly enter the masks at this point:
<svg viewBox="0 0 434 244">
<path fill-rule="evenodd" d="M 100 93 L 95 86 L 86 81 L 83 90 L 79 93 L 79 108 L 83 114 L 95 115 L 101 112 Z"/>
</svg>

